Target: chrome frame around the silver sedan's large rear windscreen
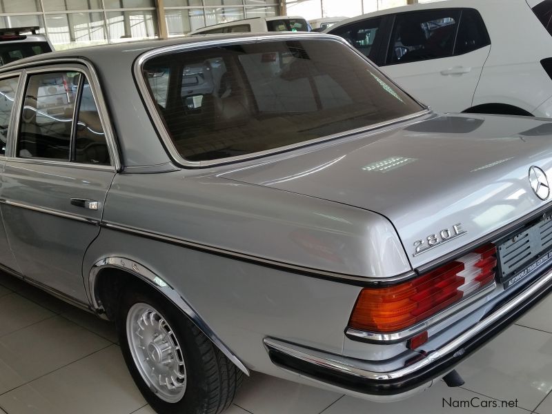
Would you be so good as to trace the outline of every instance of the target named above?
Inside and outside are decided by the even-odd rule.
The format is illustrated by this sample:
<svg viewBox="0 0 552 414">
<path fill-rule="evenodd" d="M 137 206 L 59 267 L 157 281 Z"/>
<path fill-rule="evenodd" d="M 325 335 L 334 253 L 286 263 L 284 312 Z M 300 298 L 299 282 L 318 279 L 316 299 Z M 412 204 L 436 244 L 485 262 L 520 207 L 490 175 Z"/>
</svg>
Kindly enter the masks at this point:
<svg viewBox="0 0 552 414">
<path fill-rule="evenodd" d="M 275 40 L 312 40 L 312 39 L 318 39 L 320 37 L 323 37 L 324 39 L 328 39 L 331 41 L 336 41 L 337 43 L 347 46 L 350 50 L 355 52 L 356 55 L 359 55 L 360 57 L 362 57 L 375 72 L 380 73 L 382 77 L 388 80 L 388 77 L 386 77 L 386 75 L 384 75 L 383 72 L 377 69 L 373 65 L 373 63 L 371 63 L 368 59 L 366 59 L 364 55 L 359 53 L 355 48 L 351 48 L 351 46 L 349 46 L 344 39 L 342 39 L 341 37 L 334 36 L 333 34 L 315 34 L 315 35 L 313 34 L 273 34 L 273 35 L 264 35 L 264 36 L 261 35 L 257 37 L 248 36 L 248 37 L 232 37 L 231 39 L 201 40 L 197 42 L 190 42 L 190 43 L 184 43 L 179 45 L 164 46 L 161 48 L 148 50 L 144 54 L 140 55 L 135 61 L 134 67 L 133 67 L 135 82 L 137 83 L 139 94 L 141 95 L 142 101 L 144 101 L 144 104 L 146 106 L 146 112 L 148 112 L 148 115 L 150 115 L 153 121 L 153 124 L 155 126 L 155 130 L 157 130 L 157 135 L 159 135 L 159 137 L 161 138 L 161 141 L 163 142 L 165 148 L 168 150 L 168 153 L 172 158 L 172 160 L 175 161 L 178 165 L 181 165 L 184 167 L 191 167 L 191 168 L 219 166 L 224 164 L 230 164 L 235 161 L 245 161 L 247 159 L 256 159 L 259 157 L 264 157 L 266 155 L 273 155 L 279 152 L 286 152 L 289 150 L 293 150 L 295 148 L 311 146 L 313 144 L 318 144 L 325 141 L 331 141 L 333 139 L 339 139 L 342 137 L 348 137 L 350 135 L 355 135 L 361 132 L 369 132 L 372 130 L 376 130 L 378 128 L 382 128 L 384 126 L 398 124 L 400 122 L 408 121 L 410 119 L 414 119 L 417 117 L 422 117 L 423 115 L 427 115 L 428 113 L 431 113 L 431 110 L 429 110 L 426 106 L 424 106 L 422 103 L 420 103 L 419 101 L 411 97 L 411 95 L 408 95 L 408 93 L 405 92 L 406 95 L 408 95 L 408 97 L 413 99 L 413 101 L 415 101 L 416 103 L 418 103 L 418 105 L 422 107 L 422 110 L 418 112 L 414 112 L 412 114 L 405 115 L 404 117 L 389 119 L 388 121 L 367 125 L 362 128 L 356 128 L 354 130 L 346 130 L 344 132 L 339 132 L 337 134 L 326 135 L 324 137 L 319 137 L 315 139 L 309 139 L 308 141 L 302 141 L 300 143 L 277 147 L 270 150 L 252 152 L 246 155 L 238 155 L 235 157 L 214 159 L 210 161 L 189 161 L 188 159 L 185 159 L 180 155 L 175 144 L 172 141 L 172 138 L 170 137 L 170 132 L 168 132 L 165 126 L 164 120 L 161 118 L 161 115 L 159 115 L 159 111 L 157 110 L 157 104 L 153 101 L 152 96 L 148 90 L 148 84 L 146 82 L 146 79 L 144 78 L 144 73 L 143 73 L 143 67 L 146 61 L 148 61 L 149 59 L 152 59 L 152 57 L 156 57 L 159 55 L 166 55 L 170 52 L 186 52 L 187 50 L 208 48 L 210 46 L 228 46 L 232 44 L 259 43 L 262 41 L 275 41 Z M 395 83 L 394 81 L 391 81 L 391 83 L 393 83 L 393 85 L 396 88 L 399 88 L 401 91 L 403 91 L 402 88 L 400 88 L 400 86 L 397 85 L 397 83 Z"/>
</svg>

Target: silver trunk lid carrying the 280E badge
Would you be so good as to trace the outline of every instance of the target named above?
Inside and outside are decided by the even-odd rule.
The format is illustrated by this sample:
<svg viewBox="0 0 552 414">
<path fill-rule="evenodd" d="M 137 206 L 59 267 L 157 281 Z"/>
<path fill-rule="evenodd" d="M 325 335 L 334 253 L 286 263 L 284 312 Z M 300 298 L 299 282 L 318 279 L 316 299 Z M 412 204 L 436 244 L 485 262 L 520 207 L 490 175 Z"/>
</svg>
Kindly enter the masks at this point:
<svg viewBox="0 0 552 414">
<path fill-rule="evenodd" d="M 543 201 L 531 189 L 531 166 L 552 179 L 550 121 L 450 115 L 337 139 L 223 177 L 384 215 L 417 267 L 548 203 L 552 197 Z M 442 230 L 467 233 L 415 255 L 417 241 L 428 246 L 427 237 Z"/>
</svg>

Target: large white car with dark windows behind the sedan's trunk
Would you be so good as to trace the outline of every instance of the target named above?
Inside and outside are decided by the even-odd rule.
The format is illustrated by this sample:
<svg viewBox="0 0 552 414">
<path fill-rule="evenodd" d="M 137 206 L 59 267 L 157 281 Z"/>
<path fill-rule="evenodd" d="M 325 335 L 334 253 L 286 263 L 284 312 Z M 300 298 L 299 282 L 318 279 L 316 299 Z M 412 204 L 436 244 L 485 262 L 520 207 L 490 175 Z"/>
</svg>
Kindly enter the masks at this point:
<svg viewBox="0 0 552 414">
<path fill-rule="evenodd" d="M 439 112 L 552 117 L 552 0 L 446 0 L 332 26 Z"/>
</svg>

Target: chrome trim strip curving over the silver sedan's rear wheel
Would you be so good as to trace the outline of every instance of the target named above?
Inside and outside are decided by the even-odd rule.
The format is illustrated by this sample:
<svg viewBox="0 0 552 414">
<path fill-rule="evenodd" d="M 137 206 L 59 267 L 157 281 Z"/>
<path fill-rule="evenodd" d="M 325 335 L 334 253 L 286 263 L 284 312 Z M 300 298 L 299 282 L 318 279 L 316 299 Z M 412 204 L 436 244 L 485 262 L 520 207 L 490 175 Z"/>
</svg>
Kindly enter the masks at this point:
<svg viewBox="0 0 552 414">
<path fill-rule="evenodd" d="M 126 257 L 105 257 L 97 261 L 92 266 L 92 269 L 90 269 L 90 273 L 88 275 L 88 286 L 86 287 L 90 295 L 92 307 L 96 311 L 102 308 L 96 295 L 97 277 L 101 270 L 107 268 L 124 270 L 126 273 L 141 279 L 155 288 L 159 293 L 161 293 L 161 295 L 166 297 L 166 299 L 170 300 L 170 302 L 175 304 L 175 306 L 184 312 L 195 324 L 195 326 L 197 326 L 197 328 L 199 328 L 199 330 L 203 332 L 206 337 L 208 337 L 210 341 L 213 342 L 213 344 L 215 344 L 215 346 L 219 348 L 219 350 L 224 353 L 224 355 L 230 359 L 230 361 L 232 361 L 237 368 L 239 368 L 240 371 L 249 376 L 249 370 L 245 364 L 237 357 L 237 355 L 235 355 L 235 353 L 230 350 L 230 348 L 228 348 L 228 346 L 226 346 L 226 344 L 224 344 L 224 342 L 221 341 L 217 334 L 215 334 L 208 324 L 206 324 L 204 319 L 202 319 L 195 309 L 190 306 L 188 302 L 186 302 L 186 299 L 181 297 L 181 295 L 174 288 L 172 288 L 170 284 L 165 282 L 163 278 L 159 277 L 159 275 L 156 275 L 149 268 L 139 262 L 136 262 L 135 260 L 128 259 Z"/>
</svg>

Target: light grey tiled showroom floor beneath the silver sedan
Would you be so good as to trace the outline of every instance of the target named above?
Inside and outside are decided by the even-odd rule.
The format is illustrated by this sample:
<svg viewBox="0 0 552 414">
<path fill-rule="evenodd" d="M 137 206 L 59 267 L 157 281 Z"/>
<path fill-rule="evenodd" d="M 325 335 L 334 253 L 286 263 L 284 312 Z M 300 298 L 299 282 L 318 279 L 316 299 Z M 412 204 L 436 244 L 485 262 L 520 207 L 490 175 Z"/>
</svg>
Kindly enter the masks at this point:
<svg viewBox="0 0 552 414">
<path fill-rule="evenodd" d="M 552 413 L 552 298 L 443 382 L 375 404 L 253 373 L 227 414 Z M 490 408 L 517 400 L 517 408 Z M 459 408 L 465 402 L 479 408 Z M 449 406 L 451 404 L 451 406 Z M 126 371 L 108 322 L 0 273 L 0 414 L 153 414 Z"/>
</svg>

